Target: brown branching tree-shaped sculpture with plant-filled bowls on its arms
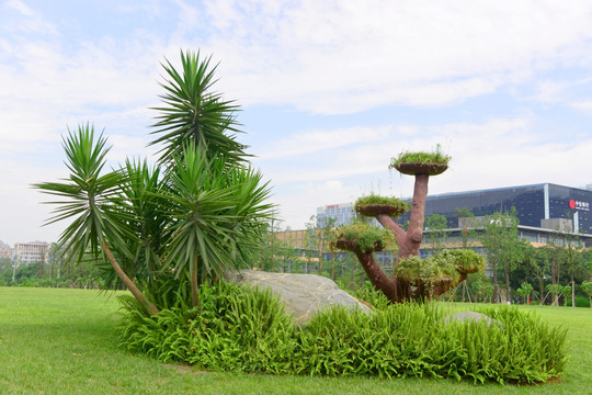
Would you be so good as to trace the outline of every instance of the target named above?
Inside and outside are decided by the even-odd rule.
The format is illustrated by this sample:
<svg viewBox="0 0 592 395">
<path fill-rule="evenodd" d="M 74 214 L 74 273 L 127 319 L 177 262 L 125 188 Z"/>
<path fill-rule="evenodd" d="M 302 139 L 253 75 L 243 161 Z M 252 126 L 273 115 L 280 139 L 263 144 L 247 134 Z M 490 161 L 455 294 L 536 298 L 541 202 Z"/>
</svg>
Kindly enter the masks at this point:
<svg viewBox="0 0 592 395">
<path fill-rule="evenodd" d="M 424 259 L 419 257 L 428 182 L 431 176 L 441 174 L 448 168 L 448 160 L 449 157 L 439 149 L 435 153 L 405 153 L 394 158 L 390 168 L 415 178 L 411 205 L 395 198 L 361 198 L 355 203 L 355 211 L 375 217 L 388 235 L 369 225 L 356 224 L 340 229 L 334 241 L 338 248 L 355 253 L 374 286 L 392 303 L 430 300 L 466 280 L 467 274 L 485 268 L 485 259 L 468 249 L 444 250 Z M 392 217 L 409 210 L 409 226 L 405 230 Z M 374 252 L 384 250 L 390 239 L 396 240 L 399 248 L 391 278 L 374 259 Z"/>
</svg>

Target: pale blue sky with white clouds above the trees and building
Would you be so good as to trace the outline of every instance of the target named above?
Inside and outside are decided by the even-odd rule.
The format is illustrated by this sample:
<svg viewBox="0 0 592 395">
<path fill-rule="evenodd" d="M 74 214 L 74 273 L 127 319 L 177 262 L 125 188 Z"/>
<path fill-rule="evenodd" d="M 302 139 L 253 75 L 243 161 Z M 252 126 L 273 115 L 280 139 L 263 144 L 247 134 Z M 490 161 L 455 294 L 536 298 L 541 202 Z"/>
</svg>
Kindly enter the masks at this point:
<svg viewBox="0 0 592 395">
<path fill-rule="evenodd" d="M 0 0 L 0 240 L 55 241 L 31 185 L 90 122 L 110 163 L 153 159 L 161 63 L 200 50 L 235 100 L 281 227 L 412 194 L 392 157 L 437 145 L 430 194 L 592 183 L 592 1 Z"/>
</svg>

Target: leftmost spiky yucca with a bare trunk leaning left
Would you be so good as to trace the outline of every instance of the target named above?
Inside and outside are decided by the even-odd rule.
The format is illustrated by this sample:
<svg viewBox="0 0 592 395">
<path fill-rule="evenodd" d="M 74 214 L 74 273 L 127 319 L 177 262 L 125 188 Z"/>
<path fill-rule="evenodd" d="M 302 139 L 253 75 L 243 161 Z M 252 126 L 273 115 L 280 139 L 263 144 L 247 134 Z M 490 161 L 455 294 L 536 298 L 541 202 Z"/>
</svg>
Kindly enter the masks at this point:
<svg viewBox="0 0 592 395">
<path fill-rule="evenodd" d="M 122 269 L 113 249 L 125 256 L 132 256 L 126 239 L 134 237 L 129 228 L 128 201 L 122 194 L 121 187 L 128 180 L 121 170 L 103 173 L 105 156 L 111 149 L 100 134 L 94 138 L 94 127 L 80 125 L 77 132 L 69 132 L 64 139 L 69 179 L 64 182 L 43 182 L 34 184 L 42 192 L 59 196 L 52 224 L 71 219 L 62 232 L 59 244 L 64 250 L 71 251 L 80 260 L 87 251 L 95 256 L 102 251 L 114 272 L 138 302 L 151 313 L 158 308 L 150 303 Z M 73 219 L 72 219 L 73 218 Z"/>
</svg>

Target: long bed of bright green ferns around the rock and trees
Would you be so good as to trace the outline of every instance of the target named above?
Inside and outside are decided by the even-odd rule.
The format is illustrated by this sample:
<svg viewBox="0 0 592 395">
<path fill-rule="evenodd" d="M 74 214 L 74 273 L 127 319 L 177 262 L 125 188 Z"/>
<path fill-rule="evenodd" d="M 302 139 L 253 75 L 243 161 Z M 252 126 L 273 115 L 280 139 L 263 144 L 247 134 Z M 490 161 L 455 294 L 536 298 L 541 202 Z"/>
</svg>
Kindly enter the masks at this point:
<svg viewBox="0 0 592 395">
<path fill-rule="evenodd" d="M 155 316 L 122 298 L 122 345 L 161 361 L 250 373 L 538 383 L 565 368 L 566 330 L 508 306 L 479 309 L 501 325 L 446 324 L 443 309 L 428 303 L 372 315 L 333 308 L 296 330 L 269 291 L 219 282 L 201 293 L 200 309 Z"/>
</svg>

